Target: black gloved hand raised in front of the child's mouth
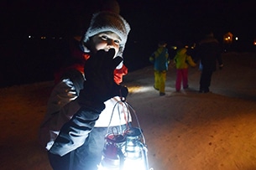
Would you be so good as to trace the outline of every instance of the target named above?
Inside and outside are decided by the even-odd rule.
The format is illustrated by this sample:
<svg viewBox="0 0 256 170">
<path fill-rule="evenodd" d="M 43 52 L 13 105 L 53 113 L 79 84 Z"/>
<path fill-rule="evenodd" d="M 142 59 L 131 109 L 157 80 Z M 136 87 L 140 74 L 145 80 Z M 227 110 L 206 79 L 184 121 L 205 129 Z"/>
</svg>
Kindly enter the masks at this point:
<svg viewBox="0 0 256 170">
<path fill-rule="evenodd" d="M 102 49 L 86 61 L 86 80 L 78 97 L 81 106 L 102 111 L 105 108 L 104 101 L 114 96 L 128 95 L 128 89 L 114 81 L 113 71 L 122 61 L 121 57 L 113 59 L 114 54 L 115 49 L 109 49 L 107 52 Z"/>
</svg>

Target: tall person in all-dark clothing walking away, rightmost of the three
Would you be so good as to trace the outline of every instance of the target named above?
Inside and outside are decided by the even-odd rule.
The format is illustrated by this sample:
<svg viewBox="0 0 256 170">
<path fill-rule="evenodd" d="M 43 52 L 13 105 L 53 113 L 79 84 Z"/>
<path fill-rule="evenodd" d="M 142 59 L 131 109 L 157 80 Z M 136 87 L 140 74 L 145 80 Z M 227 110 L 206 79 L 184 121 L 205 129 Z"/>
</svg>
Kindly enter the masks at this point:
<svg viewBox="0 0 256 170">
<path fill-rule="evenodd" d="M 201 39 L 196 52 L 196 58 L 200 60 L 200 93 L 208 93 L 211 85 L 212 73 L 216 70 L 218 63 L 219 69 L 222 69 L 221 46 L 213 33 L 207 33 L 204 39 Z"/>
</svg>

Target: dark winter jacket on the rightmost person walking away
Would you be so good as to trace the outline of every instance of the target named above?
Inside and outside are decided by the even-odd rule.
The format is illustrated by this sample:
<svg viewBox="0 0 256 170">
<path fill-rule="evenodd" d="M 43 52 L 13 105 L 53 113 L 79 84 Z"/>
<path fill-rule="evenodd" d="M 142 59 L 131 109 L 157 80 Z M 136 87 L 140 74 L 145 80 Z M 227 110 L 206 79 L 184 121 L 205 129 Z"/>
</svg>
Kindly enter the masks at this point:
<svg viewBox="0 0 256 170">
<path fill-rule="evenodd" d="M 202 70 L 215 71 L 216 62 L 222 65 L 221 48 L 212 36 L 202 39 L 197 49 L 197 59 L 200 59 Z"/>
</svg>

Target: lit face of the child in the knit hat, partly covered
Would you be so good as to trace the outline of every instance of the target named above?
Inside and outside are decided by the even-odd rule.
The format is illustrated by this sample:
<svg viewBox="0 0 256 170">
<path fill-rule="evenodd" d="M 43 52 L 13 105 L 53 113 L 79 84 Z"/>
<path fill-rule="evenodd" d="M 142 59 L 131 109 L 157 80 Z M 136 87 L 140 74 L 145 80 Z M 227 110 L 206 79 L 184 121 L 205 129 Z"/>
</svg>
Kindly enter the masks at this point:
<svg viewBox="0 0 256 170">
<path fill-rule="evenodd" d="M 92 44 L 94 48 L 92 51 L 93 53 L 96 53 L 100 49 L 104 49 L 105 51 L 108 51 L 108 49 L 115 49 L 115 57 L 118 54 L 119 50 L 119 44 L 121 42 L 121 39 L 118 37 L 116 33 L 112 32 L 103 32 L 98 33 L 92 37 Z"/>
</svg>

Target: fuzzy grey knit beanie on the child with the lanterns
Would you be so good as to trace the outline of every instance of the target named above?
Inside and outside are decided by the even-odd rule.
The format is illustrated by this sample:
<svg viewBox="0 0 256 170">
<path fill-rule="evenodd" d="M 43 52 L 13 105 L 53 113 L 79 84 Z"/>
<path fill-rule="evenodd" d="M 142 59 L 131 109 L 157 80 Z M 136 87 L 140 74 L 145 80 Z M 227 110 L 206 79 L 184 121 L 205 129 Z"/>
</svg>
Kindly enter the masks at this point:
<svg viewBox="0 0 256 170">
<path fill-rule="evenodd" d="M 97 33 L 111 31 L 112 33 L 117 33 L 121 39 L 119 45 L 118 55 L 123 54 L 123 49 L 128 39 L 128 33 L 130 31 L 130 26 L 124 20 L 122 16 L 118 13 L 110 11 L 102 11 L 99 13 L 94 13 L 91 18 L 91 23 L 87 29 L 83 41 L 86 43 L 92 36 Z"/>
</svg>

